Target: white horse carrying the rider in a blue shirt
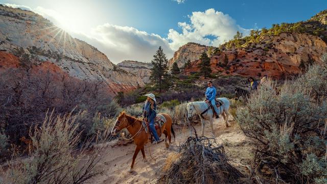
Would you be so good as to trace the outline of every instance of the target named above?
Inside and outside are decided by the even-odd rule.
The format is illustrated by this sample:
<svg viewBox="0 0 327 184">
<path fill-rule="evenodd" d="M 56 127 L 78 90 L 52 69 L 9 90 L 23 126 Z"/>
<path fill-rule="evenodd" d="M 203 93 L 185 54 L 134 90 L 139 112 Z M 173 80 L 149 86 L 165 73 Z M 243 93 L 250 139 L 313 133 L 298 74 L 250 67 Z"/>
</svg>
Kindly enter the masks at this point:
<svg viewBox="0 0 327 184">
<path fill-rule="evenodd" d="M 218 100 L 221 100 L 223 102 L 223 104 L 220 107 L 218 107 L 218 114 L 219 115 L 222 114 L 222 116 L 225 120 L 225 125 L 226 125 L 226 127 L 228 127 L 228 116 L 229 116 L 228 110 L 229 110 L 229 105 L 230 105 L 229 100 L 227 98 L 217 98 L 216 103 L 218 103 Z M 199 114 L 199 117 L 200 117 L 200 120 L 202 123 L 201 136 L 204 135 L 205 120 L 209 120 L 213 136 L 215 137 L 214 127 L 213 127 L 213 109 L 210 108 L 208 111 L 203 113 L 201 116 L 201 113 L 204 112 L 207 108 L 208 108 L 208 104 L 205 102 L 190 102 L 190 103 L 188 103 L 188 106 L 187 106 L 188 118 L 191 119 L 195 113 Z"/>
</svg>

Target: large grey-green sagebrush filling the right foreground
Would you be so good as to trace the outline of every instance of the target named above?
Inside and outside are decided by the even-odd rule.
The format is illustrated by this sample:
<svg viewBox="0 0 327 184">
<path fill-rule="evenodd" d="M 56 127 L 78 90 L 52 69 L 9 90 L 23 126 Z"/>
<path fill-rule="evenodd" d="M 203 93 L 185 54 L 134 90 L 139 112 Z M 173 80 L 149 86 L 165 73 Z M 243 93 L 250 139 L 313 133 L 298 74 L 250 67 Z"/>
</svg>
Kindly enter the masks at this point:
<svg viewBox="0 0 327 184">
<path fill-rule="evenodd" d="M 261 86 L 236 120 L 256 145 L 258 175 L 278 183 L 327 182 L 327 57 L 280 93 Z"/>
</svg>

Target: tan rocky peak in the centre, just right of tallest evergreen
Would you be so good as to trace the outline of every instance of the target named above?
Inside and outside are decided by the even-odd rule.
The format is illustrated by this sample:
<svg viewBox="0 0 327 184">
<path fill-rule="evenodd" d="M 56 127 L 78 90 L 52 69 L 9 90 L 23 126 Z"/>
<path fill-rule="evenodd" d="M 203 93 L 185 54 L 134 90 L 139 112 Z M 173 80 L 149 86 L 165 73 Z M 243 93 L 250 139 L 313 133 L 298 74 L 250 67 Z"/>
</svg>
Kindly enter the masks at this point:
<svg viewBox="0 0 327 184">
<path fill-rule="evenodd" d="M 203 52 L 211 50 L 214 52 L 215 47 L 208 47 L 198 43 L 189 42 L 182 47 L 180 47 L 175 53 L 174 56 L 168 61 L 170 67 L 172 67 L 174 62 L 177 62 L 178 67 L 183 67 L 188 60 L 191 62 L 198 60 L 200 55 Z"/>
</svg>

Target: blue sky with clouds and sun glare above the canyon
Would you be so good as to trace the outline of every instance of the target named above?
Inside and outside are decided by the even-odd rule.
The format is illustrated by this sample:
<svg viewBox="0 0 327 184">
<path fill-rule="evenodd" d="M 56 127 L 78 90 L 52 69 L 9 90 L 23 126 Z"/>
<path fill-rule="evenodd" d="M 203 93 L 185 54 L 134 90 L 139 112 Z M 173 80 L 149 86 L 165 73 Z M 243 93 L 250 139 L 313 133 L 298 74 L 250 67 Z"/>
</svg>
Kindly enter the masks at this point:
<svg viewBox="0 0 327 184">
<path fill-rule="evenodd" d="M 0 0 L 34 11 L 73 37 L 98 48 L 113 63 L 150 62 L 161 46 L 170 59 L 190 41 L 218 46 L 237 31 L 307 20 L 327 0 Z"/>
</svg>

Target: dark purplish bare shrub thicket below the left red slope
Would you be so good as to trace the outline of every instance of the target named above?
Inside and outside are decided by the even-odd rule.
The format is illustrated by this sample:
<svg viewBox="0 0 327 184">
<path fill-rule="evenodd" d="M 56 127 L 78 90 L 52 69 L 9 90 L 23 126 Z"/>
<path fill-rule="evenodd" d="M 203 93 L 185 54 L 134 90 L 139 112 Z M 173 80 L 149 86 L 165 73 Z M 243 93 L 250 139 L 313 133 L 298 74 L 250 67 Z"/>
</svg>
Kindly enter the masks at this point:
<svg viewBox="0 0 327 184">
<path fill-rule="evenodd" d="M 24 145 L 19 139 L 33 135 L 31 127 L 40 124 L 48 110 L 53 110 L 55 116 L 83 112 L 76 121 L 83 140 L 101 129 L 105 124 L 102 118 L 114 117 L 120 111 L 120 106 L 106 92 L 104 83 L 82 81 L 49 71 L 1 71 L 0 90 L 3 155 L 10 145 Z"/>
</svg>

